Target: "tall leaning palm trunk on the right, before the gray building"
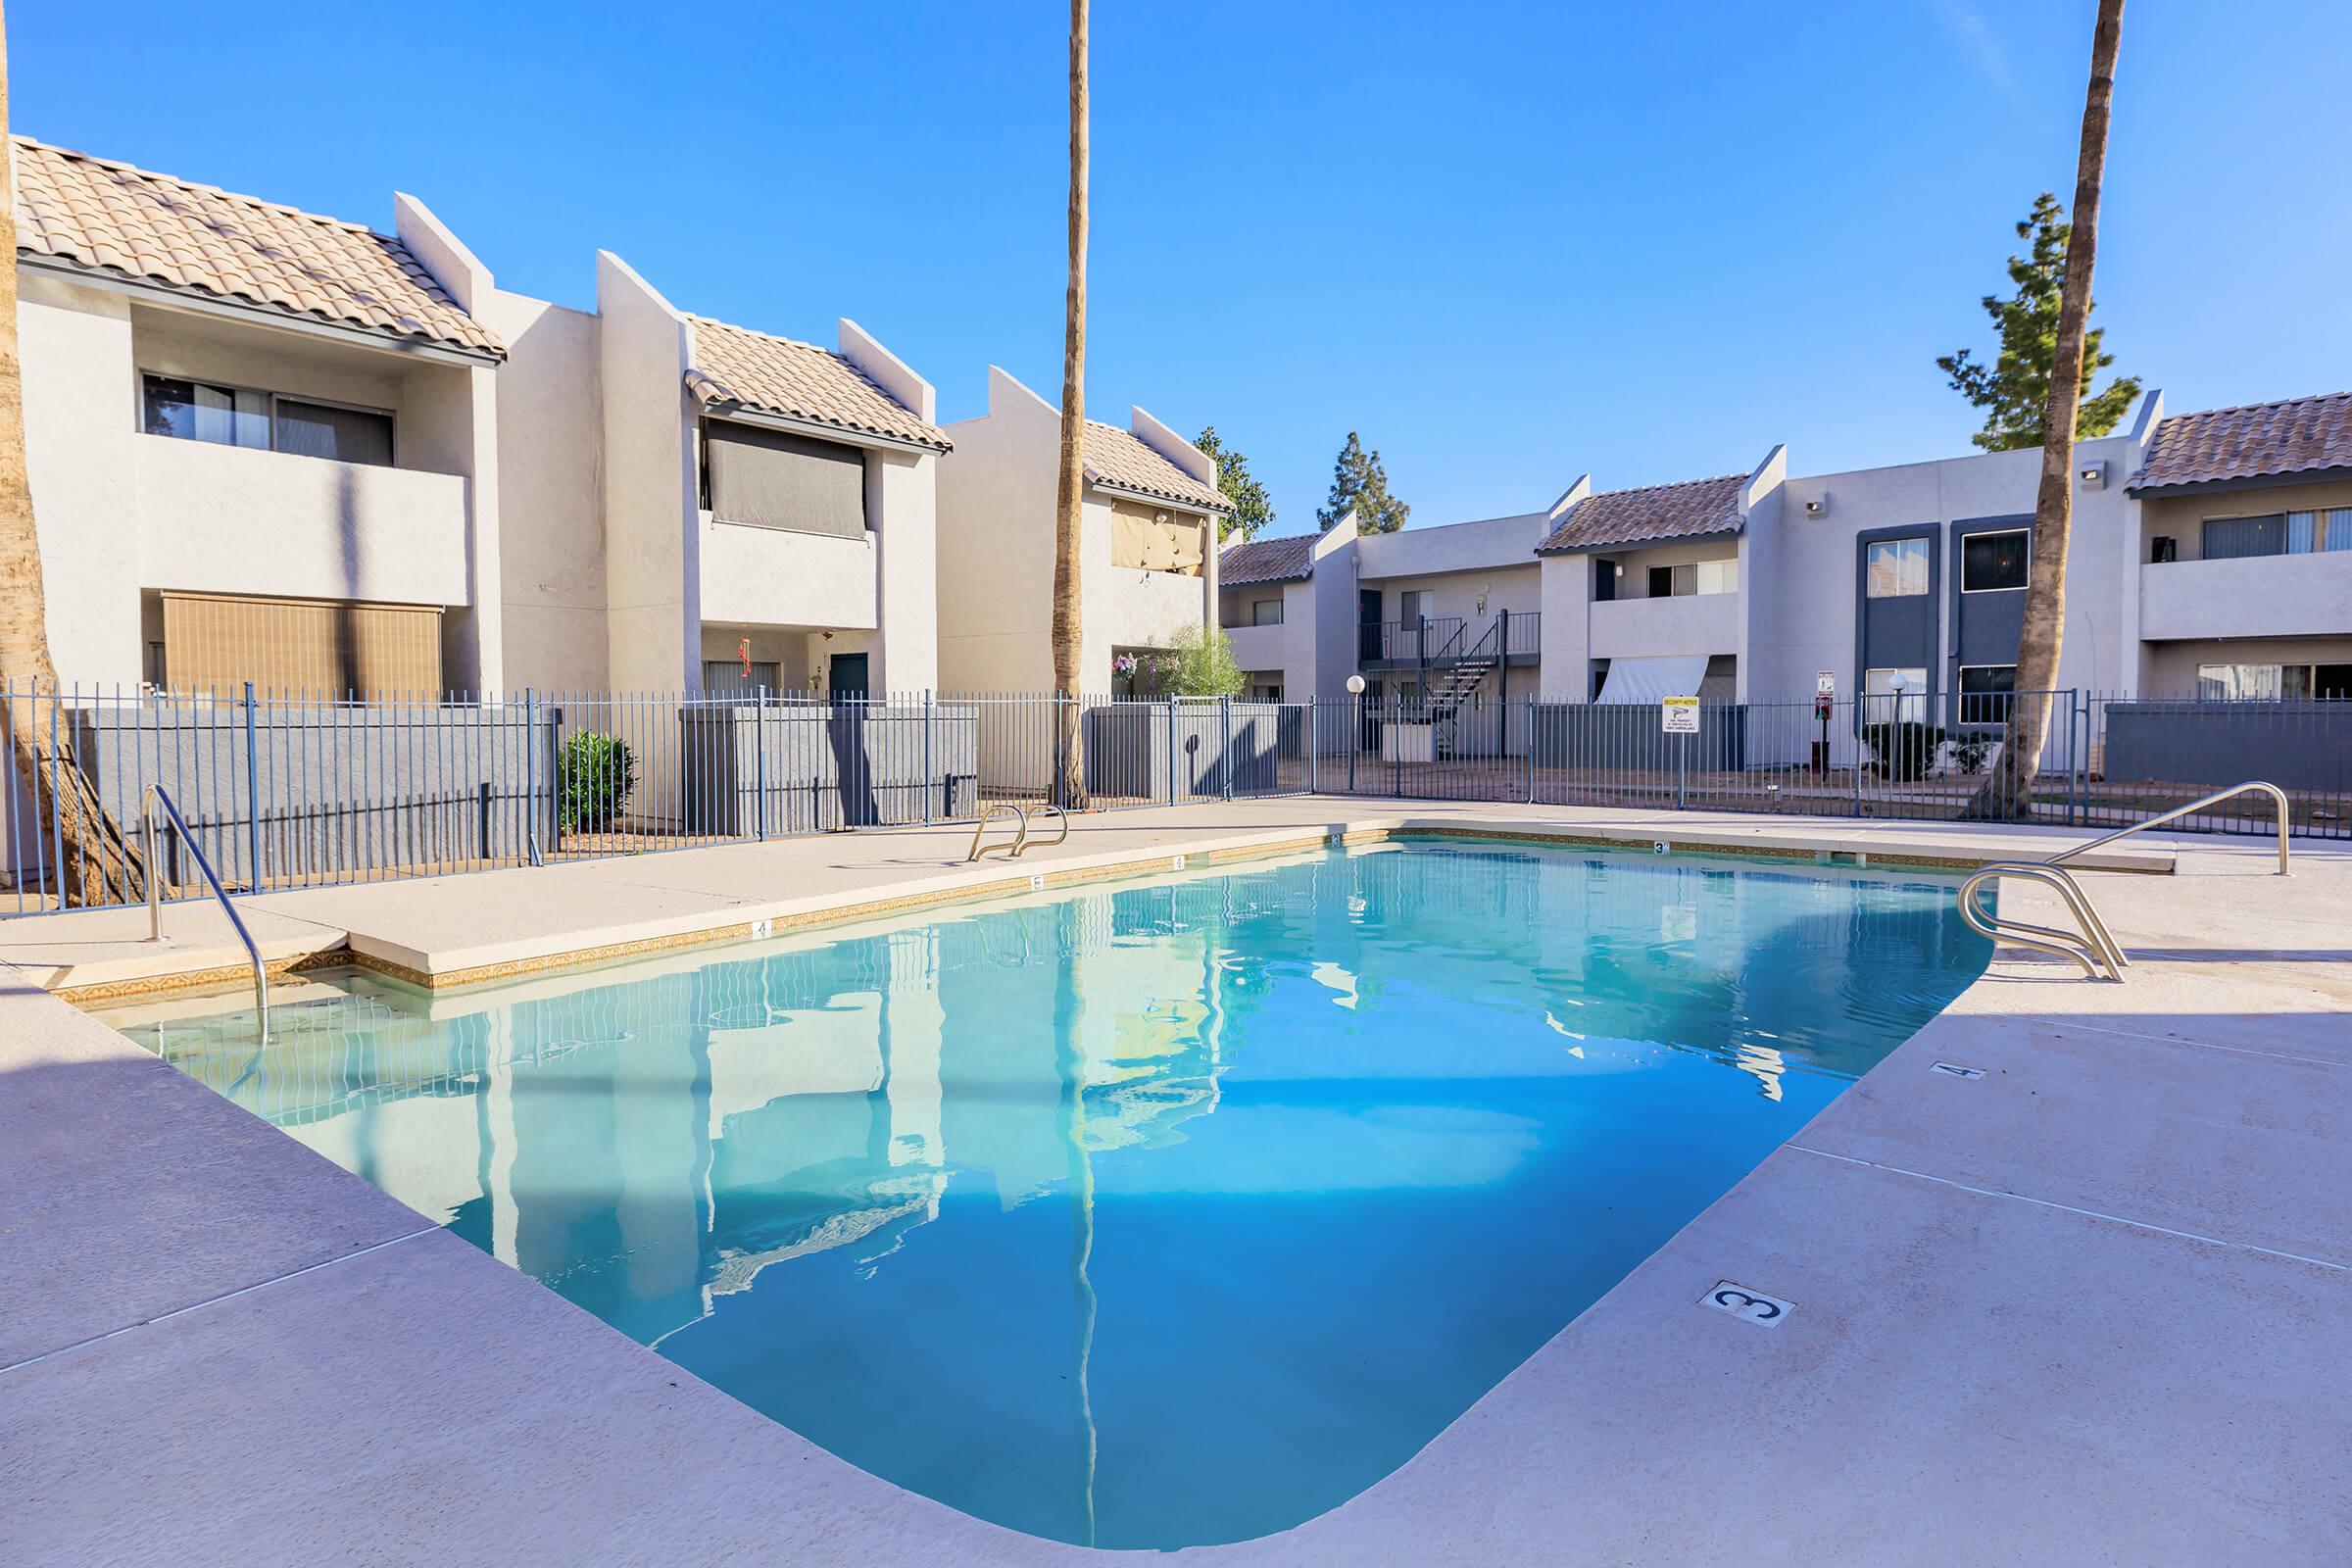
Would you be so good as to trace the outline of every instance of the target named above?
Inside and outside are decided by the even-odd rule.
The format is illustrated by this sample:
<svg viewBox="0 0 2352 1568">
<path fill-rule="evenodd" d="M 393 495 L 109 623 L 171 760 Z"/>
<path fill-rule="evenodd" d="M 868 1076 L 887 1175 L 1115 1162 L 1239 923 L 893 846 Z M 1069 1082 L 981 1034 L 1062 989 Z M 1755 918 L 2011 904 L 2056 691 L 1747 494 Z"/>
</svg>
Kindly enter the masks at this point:
<svg viewBox="0 0 2352 1568">
<path fill-rule="evenodd" d="M 2034 769 L 2051 729 L 2051 689 L 2065 637 L 2065 552 L 2074 527 L 2074 404 L 2082 397 L 2084 320 L 2091 315 L 2091 263 L 2098 256 L 2098 190 L 2107 172 L 2107 110 L 2114 103 L 2114 56 L 2124 42 L 2124 0 L 2098 0 L 2091 33 L 2091 89 L 2082 103 L 2082 153 L 2074 162 L 2074 230 L 2065 247 L 2058 296 L 2058 343 L 2042 414 L 2042 489 L 2034 496 L 2034 555 L 2025 578 L 2025 630 L 2018 637 L 2016 696 L 2002 731 L 2002 755 L 1964 816 L 2027 818 Z"/>
</svg>

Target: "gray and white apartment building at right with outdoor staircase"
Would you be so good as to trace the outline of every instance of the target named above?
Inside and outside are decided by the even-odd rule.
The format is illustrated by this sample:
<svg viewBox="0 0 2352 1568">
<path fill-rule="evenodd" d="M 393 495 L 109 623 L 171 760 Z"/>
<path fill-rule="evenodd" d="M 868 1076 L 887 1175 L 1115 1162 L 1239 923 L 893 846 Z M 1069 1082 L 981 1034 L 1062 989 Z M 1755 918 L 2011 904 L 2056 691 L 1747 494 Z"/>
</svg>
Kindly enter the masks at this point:
<svg viewBox="0 0 2352 1568">
<path fill-rule="evenodd" d="M 1581 477 L 1543 512 L 1235 545 L 1223 625 L 1261 689 L 1334 696 L 1362 675 L 1369 698 L 1439 719 L 1529 691 L 1804 705 L 1828 677 L 1856 722 L 1990 733 L 2016 689 L 2039 475 L 2039 451 L 1790 475 L 1773 447 L 1705 480 Z M 2150 393 L 2077 442 L 2072 484 L 2060 686 L 2352 696 L 2352 395 L 2166 416 Z"/>
</svg>

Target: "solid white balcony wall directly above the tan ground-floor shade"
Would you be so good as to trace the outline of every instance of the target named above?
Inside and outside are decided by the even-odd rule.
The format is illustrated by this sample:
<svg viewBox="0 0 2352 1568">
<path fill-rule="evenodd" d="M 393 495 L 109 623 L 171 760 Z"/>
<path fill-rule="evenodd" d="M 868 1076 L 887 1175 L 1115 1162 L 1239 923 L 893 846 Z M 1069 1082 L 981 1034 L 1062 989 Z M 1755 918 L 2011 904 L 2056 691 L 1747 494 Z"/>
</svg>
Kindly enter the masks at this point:
<svg viewBox="0 0 2352 1568">
<path fill-rule="evenodd" d="M 466 480 L 132 437 L 139 585 L 289 599 L 466 604 Z"/>
</svg>

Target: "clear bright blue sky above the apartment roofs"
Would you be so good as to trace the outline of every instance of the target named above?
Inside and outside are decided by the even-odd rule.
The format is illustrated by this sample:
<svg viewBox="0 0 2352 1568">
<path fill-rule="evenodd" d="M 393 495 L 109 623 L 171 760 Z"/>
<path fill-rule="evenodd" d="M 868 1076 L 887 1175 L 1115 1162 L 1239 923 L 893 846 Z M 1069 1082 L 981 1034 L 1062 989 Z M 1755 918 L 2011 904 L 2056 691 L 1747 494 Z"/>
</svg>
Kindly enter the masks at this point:
<svg viewBox="0 0 2352 1568">
<path fill-rule="evenodd" d="M 2032 195 L 2072 200 L 2091 0 L 1145 5 L 1094 14 L 1089 411 L 1249 454 L 1312 527 L 1362 430 L 1414 524 L 1966 449 Z M 875 331 L 983 409 L 1061 386 L 1068 12 L 7 7 L 14 127 L 499 275 Z M 2173 409 L 2352 388 L 2352 5 L 2136 0 L 2098 322 Z"/>
</svg>

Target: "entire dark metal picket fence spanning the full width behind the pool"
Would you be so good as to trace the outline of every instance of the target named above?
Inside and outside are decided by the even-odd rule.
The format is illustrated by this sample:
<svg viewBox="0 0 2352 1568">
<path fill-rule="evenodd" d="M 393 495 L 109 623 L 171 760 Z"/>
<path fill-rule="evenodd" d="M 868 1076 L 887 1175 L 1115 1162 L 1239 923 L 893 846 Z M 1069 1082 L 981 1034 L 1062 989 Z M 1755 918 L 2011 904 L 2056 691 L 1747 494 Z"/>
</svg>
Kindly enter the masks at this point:
<svg viewBox="0 0 2352 1568">
<path fill-rule="evenodd" d="M 1999 696 L 1661 705 L 1534 698 L 1122 701 L 1023 693 L 536 693 L 492 701 L 0 693 L 0 914 L 125 903 L 75 835 L 38 811 L 80 776 L 129 863 L 195 891 L 176 842 L 148 842 L 162 785 L 233 889 L 381 882 L 501 865 L 974 820 L 995 802 L 1169 806 L 1362 795 L 1806 816 L 1969 816 L 1999 757 Z M 1077 750 L 1073 764 L 1073 748 Z M 2032 799 L 2004 816 L 2122 825 L 2267 778 L 2293 830 L 2352 837 L 2352 703 L 2185 703 L 2051 693 Z M 2183 823 L 2267 825 L 2265 799 Z M 64 867 L 64 875 L 61 875 Z"/>
</svg>

